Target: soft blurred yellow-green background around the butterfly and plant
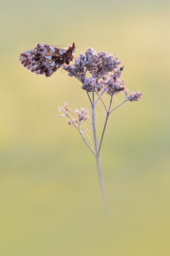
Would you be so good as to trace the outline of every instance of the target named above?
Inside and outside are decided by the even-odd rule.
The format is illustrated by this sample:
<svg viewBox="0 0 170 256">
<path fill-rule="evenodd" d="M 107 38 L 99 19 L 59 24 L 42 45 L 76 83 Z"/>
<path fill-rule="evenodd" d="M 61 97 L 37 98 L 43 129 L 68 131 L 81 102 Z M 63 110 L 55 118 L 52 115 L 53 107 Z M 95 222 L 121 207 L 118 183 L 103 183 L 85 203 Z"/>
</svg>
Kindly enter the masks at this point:
<svg viewBox="0 0 170 256">
<path fill-rule="evenodd" d="M 164 0 L 1 2 L 0 255 L 170 255 L 169 17 Z M 90 108 L 85 91 L 61 69 L 45 78 L 18 60 L 37 43 L 73 41 L 76 57 L 87 47 L 118 56 L 126 87 L 144 92 L 112 113 L 104 135 L 109 224 L 94 155 L 56 116 L 64 100 Z"/>
</svg>

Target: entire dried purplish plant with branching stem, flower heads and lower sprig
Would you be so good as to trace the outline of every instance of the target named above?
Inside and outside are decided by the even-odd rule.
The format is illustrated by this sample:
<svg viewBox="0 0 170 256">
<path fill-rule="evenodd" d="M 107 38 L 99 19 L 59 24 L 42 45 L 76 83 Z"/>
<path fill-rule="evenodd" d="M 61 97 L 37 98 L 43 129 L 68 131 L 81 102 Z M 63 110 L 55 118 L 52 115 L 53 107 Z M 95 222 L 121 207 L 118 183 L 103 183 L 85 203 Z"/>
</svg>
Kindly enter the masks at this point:
<svg viewBox="0 0 170 256">
<path fill-rule="evenodd" d="M 88 144 L 86 138 L 84 137 L 84 133 L 91 128 L 91 125 L 85 131 L 82 132 L 81 130 L 81 124 L 84 123 L 89 118 L 88 110 L 85 111 L 85 109 L 82 108 L 79 111 L 76 109 L 75 112 L 77 116 L 75 116 L 74 113 L 67 107 L 67 103 L 64 102 L 63 107 L 59 106 L 59 111 L 63 112 L 63 114 L 58 115 L 58 116 L 68 117 L 68 120 L 67 120 L 68 124 L 70 126 L 75 127 L 80 132 L 83 140 L 95 155 L 98 175 L 100 180 L 102 199 L 104 204 L 104 211 L 107 217 L 108 217 L 108 208 L 107 208 L 106 194 L 104 191 L 104 183 L 103 183 L 101 164 L 100 164 L 100 149 L 101 149 L 106 125 L 107 125 L 109 116 L 113 112 L 113 110 L 115 110 L 116 108 L 118 108 L 120 105 L 122 105 L 128 100 L 139 101 L 139 99 L 142 97 L 142 94 L 143 94 L 143 92 L 139 93 L 137 91 L 136 93 L 132 92 L 130 95 L 128 95 L 128 89 L 126 89 L 125 87 L 124 80 L 123 79 L 120 80 L 120 78 L 122 77 L 122 71 L 124 69 L 124 66 L 119 68 L 120 63 L 121 61 L 118 60 L 118 57 L 108 54 L 107 51 L 96 53 L 96 51 L 93 48 L 87 48 L 87 50 L 85 51 L 85 54 L 81 52 L 80 56 L 75 58 L 75 63 L 73 63 L 72 66 L 64 65 L 63 67 L 63 69 L 69 73 L 68 75 L 70 77 L 74 76 L 82 83 L 81 88 L 83 90 L 86 90 L 87 92 L 87 95 L 92 107 L 92 124 L 91 125 L 93 125 L 95 151 Z M 87 77 L 87 74 L 89 74 L 88 77 Z M 117 93 L 122 93 L 122 91 L 124 91 L 125 93 L 125 97 L 126 97 L 125 100 L 119 105 L 117 105 L 115 108 L 111 109 L 113 96 Z M 104 92 L 110 95 L 110 103 L 108 108 L 106 107 L 106 104 L 101 98 Z M 90 97 L 89 93 L 92 93 L 92 98 Z M 97 97 L 98 97 L 96 101 L 95 101 L 95 94 L 97 94 Z M 106 120 L 103 128 L 103 132 L 101 135 L 100 143 L 98 146 L 97 135 L 96 135 L 96 124 L 95 124 L 95 106 L 99 100 L 101 100 L 102 104 L 104 105 L 104 108 L 106 109 Z"/>
</svg>

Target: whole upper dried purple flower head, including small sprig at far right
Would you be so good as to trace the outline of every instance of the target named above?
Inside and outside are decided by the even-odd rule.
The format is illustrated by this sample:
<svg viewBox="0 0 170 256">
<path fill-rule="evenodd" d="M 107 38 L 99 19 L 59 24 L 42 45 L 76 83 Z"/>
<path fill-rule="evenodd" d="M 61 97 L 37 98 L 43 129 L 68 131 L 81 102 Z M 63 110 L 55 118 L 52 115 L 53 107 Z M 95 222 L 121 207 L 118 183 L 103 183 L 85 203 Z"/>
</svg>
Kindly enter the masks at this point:
<svg viewBox="0 0 170 256">
<path fill-rule="evenodd" d="M 101 90 L 113 95 L 125 90 L 127 100 L 139 101 L 143 92 L 132 92 L 128 96 L 128 90 L 125 89 L 124 80 L 120 80 L 124 69 L 124 66 L 119 68 L 120 63 L 121 61 L 118 60 L 118 57 L 107 51 L 97 53 L 93 48 L 89 47 L 85 51 L 85 54 L 81 52 L 75 58 L 73 67 L 68 65 L 64 66 L 64 69 L 69 72 L 69 76 L 75 76 L 82 82 L 82 89 L 86 90 L 86 92 L 99 92 Z M 87 77 L 87 73 L 91 74 L 91 76 Z"/>
</svg>

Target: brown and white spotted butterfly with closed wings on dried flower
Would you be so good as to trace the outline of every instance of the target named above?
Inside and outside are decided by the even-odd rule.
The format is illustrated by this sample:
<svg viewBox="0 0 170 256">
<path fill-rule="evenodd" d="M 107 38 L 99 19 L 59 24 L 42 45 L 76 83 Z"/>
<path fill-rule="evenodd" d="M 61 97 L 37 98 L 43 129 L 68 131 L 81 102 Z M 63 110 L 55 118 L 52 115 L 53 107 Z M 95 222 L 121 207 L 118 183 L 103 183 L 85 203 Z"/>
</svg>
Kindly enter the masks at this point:
<svg viewBox="0 0 170 256">
<path fill-rule="evenodd" d="M 65 50 L 53 45 L 37 44 L 34 49 L 21 53 L 19 61 L 31 72 L 50 77 L 63 64 L 70 64 L 75 50 L 74 43 Z"/>
</svg>

